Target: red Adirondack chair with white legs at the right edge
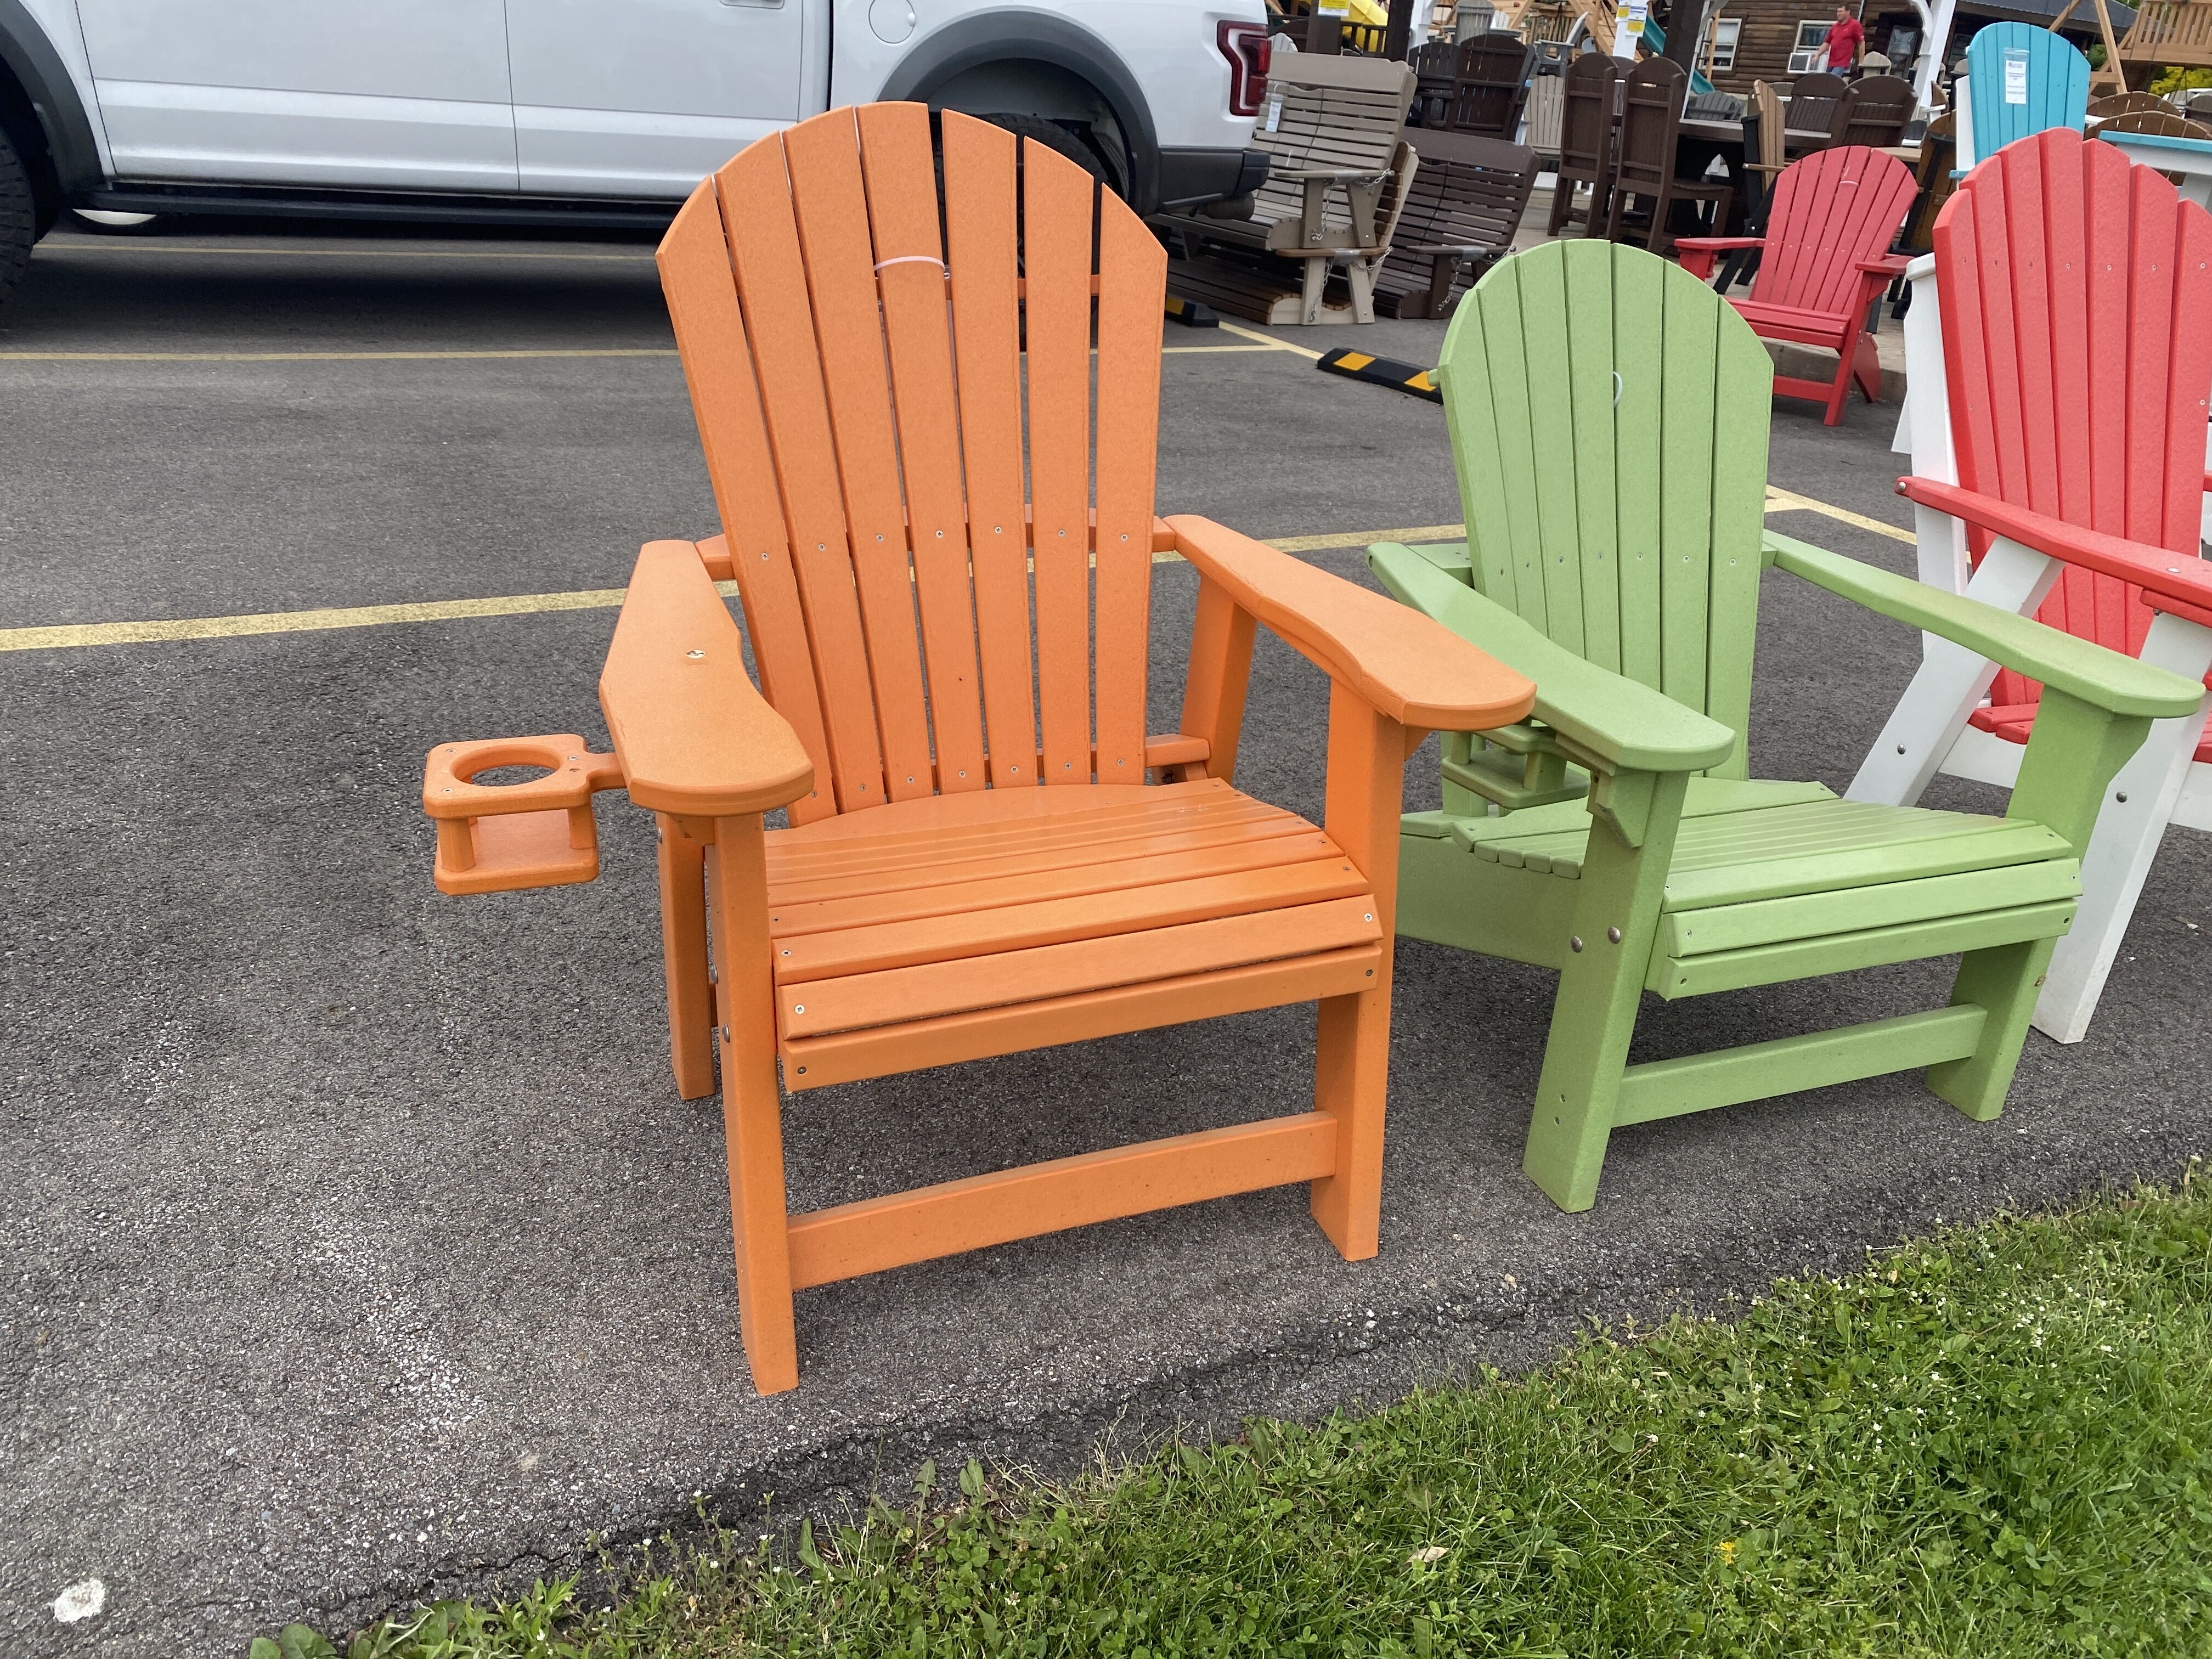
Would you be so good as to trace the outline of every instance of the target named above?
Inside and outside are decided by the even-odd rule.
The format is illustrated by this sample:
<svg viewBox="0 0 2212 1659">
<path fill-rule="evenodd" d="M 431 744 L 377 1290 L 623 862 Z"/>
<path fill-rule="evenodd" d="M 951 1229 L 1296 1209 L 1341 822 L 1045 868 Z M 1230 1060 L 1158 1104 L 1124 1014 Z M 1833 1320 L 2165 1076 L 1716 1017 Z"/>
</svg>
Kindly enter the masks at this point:
<svg viewBox="0 0 2212 1659">
<path fill-rule="evenodd" d="M 1936 303 L 1907 314 L 1913 476 L 1898 480 L 1920 509 L 1920 580 L 2203 677 L 2212 215 L 2053 126 L 1960 181 L 1933 279 Z M 1931 644 L 1849 796 L 1909 803 L 1938 770 L 2011 781 L 2013 745 L 2073 717 L 2048 686 Z M 2212 827 L 2203 732 L 2203 703 L 2157 721 L 2106 790 L 2035 1002 L 2059 1042 L 2088 1031 L 2168 823 Z"/>
</svg>

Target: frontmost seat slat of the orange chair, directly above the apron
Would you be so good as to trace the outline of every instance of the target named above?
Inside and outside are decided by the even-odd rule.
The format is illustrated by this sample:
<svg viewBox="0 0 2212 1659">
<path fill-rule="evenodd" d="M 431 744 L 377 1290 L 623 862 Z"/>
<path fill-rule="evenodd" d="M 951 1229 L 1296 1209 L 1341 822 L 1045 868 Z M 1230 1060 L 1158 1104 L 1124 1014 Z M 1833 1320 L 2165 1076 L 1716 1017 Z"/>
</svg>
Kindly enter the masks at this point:
<svg viewBox="0 0 2212 1659">
<path fill-rule="evenodd" d="M 1254 916 L 814 980 L 781 991 L 776 1020 L 785 1037 L 818 1037 L 1314 956 L 1380 938 L 1374 900 L 1334 898 Z"/>
</svg>

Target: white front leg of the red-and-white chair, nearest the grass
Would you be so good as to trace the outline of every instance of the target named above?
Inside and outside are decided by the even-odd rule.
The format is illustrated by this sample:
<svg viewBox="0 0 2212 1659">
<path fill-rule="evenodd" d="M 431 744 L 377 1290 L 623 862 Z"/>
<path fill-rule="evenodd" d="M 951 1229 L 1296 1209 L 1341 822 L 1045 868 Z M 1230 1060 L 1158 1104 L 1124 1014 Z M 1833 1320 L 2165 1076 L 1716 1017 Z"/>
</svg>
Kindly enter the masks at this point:
<svg viewBox="0 0 2212 1659">
<path fill-rule="evenodd" d="M 2212 670 L 2212 628 L 2161 615 L 2143 639 L 2143 661 L 2203 679 Z M 2203 730 L 2203 701 L 2194 714 L 2152 721 L 2143 748 L 2112 779 L 2081 854 L 2081 909 L 2073 931 L 2051 953 L 2044 991 L 2035 1000 L 2035 1029 L 2046 1037 L 2081 1042 L 2088 1035 Z"/>
</svg>

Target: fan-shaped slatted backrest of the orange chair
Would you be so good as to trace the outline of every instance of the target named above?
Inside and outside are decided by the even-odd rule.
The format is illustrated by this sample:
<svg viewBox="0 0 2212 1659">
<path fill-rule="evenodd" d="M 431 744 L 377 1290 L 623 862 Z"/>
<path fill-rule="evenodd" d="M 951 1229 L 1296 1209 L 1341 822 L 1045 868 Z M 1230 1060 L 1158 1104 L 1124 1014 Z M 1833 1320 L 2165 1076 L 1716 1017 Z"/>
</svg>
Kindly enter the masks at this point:
<svg viewBox="0 0 2212 1659">
<path fill-rule="evenodd" d="M 942 210 L 929 113 L 872 104 L 750 146 L 659 250 L 761 690 L 821 779 L 799 823 L 1144 781 L 1166 250 L 940 119 Z"/>
</svg>

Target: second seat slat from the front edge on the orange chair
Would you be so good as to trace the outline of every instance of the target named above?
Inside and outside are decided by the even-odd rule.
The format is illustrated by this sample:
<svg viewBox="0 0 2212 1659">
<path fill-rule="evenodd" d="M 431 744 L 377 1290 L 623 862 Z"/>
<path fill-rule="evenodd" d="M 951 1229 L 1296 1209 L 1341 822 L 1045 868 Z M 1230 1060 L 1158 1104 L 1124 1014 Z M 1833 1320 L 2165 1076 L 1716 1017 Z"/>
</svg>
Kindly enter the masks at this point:
<svg viewBox="0 0 2212 1659">
<path fill-rule="evenodd" d="M 1343 856 L 1292 865 L 1234 869 L 1219 876 L 1117 887 L 1013 902 L 982 902 L 938 916 L 916 916 L 863 927 L 790 933 L 776 940 L 776 982 L 805 984 L 854 973 L 964 962 L 1000 951 L 1117 938 L 1157 927 L 1206 922 L 1217 916 L 1318 905 L 1365 896 L 1367 880 Z"/>
</svg>

